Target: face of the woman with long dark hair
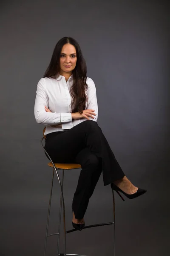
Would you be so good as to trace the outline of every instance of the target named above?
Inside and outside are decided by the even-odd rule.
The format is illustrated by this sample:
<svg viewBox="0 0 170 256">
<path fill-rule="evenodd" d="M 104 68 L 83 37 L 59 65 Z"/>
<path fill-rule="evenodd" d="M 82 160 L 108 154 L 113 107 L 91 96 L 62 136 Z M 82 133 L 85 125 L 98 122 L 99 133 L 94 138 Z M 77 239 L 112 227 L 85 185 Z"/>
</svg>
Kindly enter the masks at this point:
<svg viewBox="0 0 170 256">
<path fill-rule="evenodd" d="M 70 72 L 76 67 L 76 48 L 72 44 L 64 44 L 60 54 L 60 73 Z"/>
</svg>

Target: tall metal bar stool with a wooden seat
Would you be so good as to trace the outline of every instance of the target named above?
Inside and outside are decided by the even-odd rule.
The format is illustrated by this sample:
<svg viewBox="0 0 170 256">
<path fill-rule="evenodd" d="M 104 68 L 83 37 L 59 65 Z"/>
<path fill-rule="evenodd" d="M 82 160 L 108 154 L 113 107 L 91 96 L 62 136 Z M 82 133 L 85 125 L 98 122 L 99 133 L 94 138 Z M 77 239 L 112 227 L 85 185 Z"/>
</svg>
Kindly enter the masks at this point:
<svg viewBox="0 0 170 256">
<path fill-rule="evenodd" d="M 46 136 L 44 135 L 45 128 L 43 129 L 43 137 L 41 139 L 41 145 L 42 145 L 42 148 L 44 149 L 45 153 L 47 154 L 47 156 L 51 160 L 51 157 L 48 155 L 47 151 L 45 150 L 45 148 L 43 146 L 43 140 L 45 140 L 45 138 L 46 138 Z M 79 169 L 79 168 L 81 168 L 81 165 L 76 164 L 76 163 L 53 163 L 53 161 L 51 160 L 51 162 L 48 163 L 48 166 L 53 167 L 53 174 L 52 174 L 50 199 L 49 199 L 49 205 L 48 205 L 48 217 L 47 217 L 47 226 L 46 226 L 46 234 L 45 234 L 44 256 L 45 256 L 45 253 L 46 253 L 47 238 L 49 236 L 55 236 L 55 235 L 58 236 L 58 239 L 57 239 L 57 256 L 67 256 L 67 255 L 69 255 L 69 256 L 85 256 L 85 255 L 80 255 L 80 254 L 68 254 L 68 253 L 66 253 L 66 234 L 77 231 L 77 230 L 76 229 L 71 229 L 71 230 L 66 231 L 66 227 L 65 227 L 65 201 L 64 201 L 64 195 L 63 195 L 64 171 L 65 170 L 71 170 L 71 169 Z M 62 179 L 60 179 L 60 177 L 59 177 L 59 174 L 58 174 L 58 171 L 57 171 L 58 169 L 62 170 Z M 58 233 L 48 235 L 48 224 L 49 224 L 49 217 L 50 217 L 54 172 L 57 175 L 59 186 L 60 186 L 59 224 L 58 224 Z M 106 222 L 106 223 L 89 225 L 89 226 L 85 226 L 84 229 L 91 228 L 91 227 L 105 226 L 105 225 L 113 225 L 113 256 L 115 256 L 115 198 L 114 198 L 113 189 L 112 189 L 112 195 L 113 195 L 113 222 Z M 62 209 L 63 209 L 63 230 L 64 230 L 64 253 L 59 253 L 59 235 L 60 235 L 60 227 L 61 227 Z"/>
</svg>

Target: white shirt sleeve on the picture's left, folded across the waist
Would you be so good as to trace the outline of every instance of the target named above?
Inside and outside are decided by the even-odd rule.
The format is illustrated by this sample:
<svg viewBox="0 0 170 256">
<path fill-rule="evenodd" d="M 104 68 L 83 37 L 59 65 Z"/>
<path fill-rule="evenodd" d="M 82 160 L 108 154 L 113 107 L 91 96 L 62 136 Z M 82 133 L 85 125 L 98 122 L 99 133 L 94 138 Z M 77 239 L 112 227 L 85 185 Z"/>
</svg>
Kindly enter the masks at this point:
<svg viewBox="0 0 170 256">
<path fill-rule="evenodd" d="M 48 107 L 48 95 L 45 92 L 45 82 L 43 79 L 37 84 L 35 105 L 34 105 L 34 116 L 37 123 L 44 125 L 56 125 L 65 122 L 71 122 L 71 113 L 51 113 L 45 111 L 45 106 Z"/>
</svg>

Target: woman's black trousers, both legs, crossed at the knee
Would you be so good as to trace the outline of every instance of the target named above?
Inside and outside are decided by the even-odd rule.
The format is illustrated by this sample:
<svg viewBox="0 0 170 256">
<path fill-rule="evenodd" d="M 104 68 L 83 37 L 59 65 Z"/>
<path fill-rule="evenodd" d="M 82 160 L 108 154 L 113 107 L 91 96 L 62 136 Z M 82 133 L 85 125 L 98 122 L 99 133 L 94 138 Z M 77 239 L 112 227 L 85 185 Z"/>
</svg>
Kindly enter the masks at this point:
<svg viewBox="0 0 170 256">
<path fill-rule="evenodd" d="M 45 150 L 54 163 L 79 163 L 82 170 L 73 198 L 75 218 L 82 219 L 102 173 L 104 186 L 125 176 L 101 128 L 87 120 L 68 131 L 47 134 Z"/>
</svg>

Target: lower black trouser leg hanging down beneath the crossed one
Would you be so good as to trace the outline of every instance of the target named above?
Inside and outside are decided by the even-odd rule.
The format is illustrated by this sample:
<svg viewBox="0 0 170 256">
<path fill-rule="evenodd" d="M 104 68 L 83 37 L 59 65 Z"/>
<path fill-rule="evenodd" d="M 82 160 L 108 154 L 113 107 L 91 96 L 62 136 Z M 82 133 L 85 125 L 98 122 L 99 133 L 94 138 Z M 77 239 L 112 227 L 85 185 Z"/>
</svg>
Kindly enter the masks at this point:
<svg viewBox="0 0 170 256">
<path fill-rule="evenodd" d="M 82 170 L 74 193 L 72 208 L 75 218 L 82 219 L 101 175 L 102 161 L 91 153 L 88 148 L 84 148 L 77 155 L 75 162 L 81 164 Z"/>
</svg>

